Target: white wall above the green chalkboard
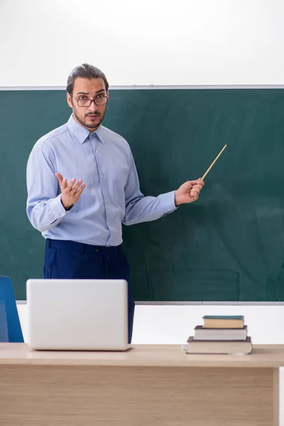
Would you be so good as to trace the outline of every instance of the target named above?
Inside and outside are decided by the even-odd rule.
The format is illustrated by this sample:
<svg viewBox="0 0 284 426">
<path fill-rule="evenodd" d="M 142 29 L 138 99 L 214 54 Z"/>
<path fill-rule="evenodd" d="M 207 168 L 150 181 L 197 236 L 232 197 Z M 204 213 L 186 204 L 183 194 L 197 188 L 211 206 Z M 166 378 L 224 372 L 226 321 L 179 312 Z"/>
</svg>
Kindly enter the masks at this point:
<svg viewBox="0 0 284 426">
<path fill-rule="evenodd" d="M 283 0 L 1 0 L 0 87 L 284 84 Z"/>
</svg>

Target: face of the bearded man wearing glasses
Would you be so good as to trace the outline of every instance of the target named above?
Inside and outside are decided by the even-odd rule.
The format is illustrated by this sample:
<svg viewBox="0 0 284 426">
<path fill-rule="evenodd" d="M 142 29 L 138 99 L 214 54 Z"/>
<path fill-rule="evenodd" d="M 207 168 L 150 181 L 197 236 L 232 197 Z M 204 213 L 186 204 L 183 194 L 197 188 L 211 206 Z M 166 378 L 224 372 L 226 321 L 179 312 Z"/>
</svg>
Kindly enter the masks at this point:
<svg viewBox="0 0 284 426">
<path fill-rule="evenodd" d="M 99 99 L 107 96 L 108 92 L 102 78 L 77 77 L 74 82 L 73 97 L 76 99 Z M 73 116 L 77 123 L 82 124 L 89 131 L 96 130 L 104 119 L 107 104 L 96 105 L 94 102 L 89 107 L 79 107 L 76 99 L 67 93 L 67 102 L 73 109 Z M 80 103 L 80 102 L 79 102 Z"/>
</svg>

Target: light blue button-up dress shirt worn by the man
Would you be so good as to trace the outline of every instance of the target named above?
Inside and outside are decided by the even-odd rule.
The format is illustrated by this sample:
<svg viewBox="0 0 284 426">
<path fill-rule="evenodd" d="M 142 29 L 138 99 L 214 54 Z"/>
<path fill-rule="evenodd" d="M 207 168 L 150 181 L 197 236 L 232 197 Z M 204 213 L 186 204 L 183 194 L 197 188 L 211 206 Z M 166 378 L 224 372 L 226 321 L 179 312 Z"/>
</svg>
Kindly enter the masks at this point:
<svg viewBox="0 0 284 426">
<path fill-rule="evenodd" d="M 86 184 L 65 211 L 55 173 Z M 129 144 L 104 126 L 90 133 L 71 116 L 40 138 L 28 158 L 27 214 L 45 238 L 119 246 L 122 226 L 158 219 L 175 210 L 175 192 L 144 197 Z"/>
</svg>

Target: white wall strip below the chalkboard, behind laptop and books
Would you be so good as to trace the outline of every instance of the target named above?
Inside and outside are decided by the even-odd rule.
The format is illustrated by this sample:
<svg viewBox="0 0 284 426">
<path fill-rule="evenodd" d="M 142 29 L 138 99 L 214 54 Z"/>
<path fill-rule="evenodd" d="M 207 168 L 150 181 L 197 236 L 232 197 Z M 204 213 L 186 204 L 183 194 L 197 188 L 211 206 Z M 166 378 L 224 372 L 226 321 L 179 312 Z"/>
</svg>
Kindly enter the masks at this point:
<svg viewBox="0 0 284 426">
<path fill-rule="evenodd" d="M 26 304 L 17 306 L 26 341 Z M 253 344 L 284 344 L 281 305 L 136 305 L 133 344 L 185 344 L 204 315 L 244 315 Z"/>
</svg>

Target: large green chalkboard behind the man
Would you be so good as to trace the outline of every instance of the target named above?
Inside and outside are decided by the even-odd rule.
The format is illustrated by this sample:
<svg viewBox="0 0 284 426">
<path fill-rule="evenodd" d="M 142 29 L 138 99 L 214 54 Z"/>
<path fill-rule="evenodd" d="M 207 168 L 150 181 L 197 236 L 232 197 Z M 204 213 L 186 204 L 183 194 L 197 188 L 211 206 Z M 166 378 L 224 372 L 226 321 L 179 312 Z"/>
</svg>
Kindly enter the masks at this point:
<svg viewBox="0 0 284 426">
<path fill-rule="evenodd" d="M 26 162 L 69 116 L 63 90 L 0 92 L 0 274 L 18 300 L 43 266 Z M 199 178 L 227 144 L 200 200 L 124 227 L 136 300 L 284 301 L 283 89 L 111 90 L 104 125 L 129 141 L 145 195 Z"/>
</svg>

